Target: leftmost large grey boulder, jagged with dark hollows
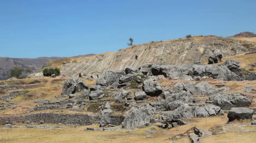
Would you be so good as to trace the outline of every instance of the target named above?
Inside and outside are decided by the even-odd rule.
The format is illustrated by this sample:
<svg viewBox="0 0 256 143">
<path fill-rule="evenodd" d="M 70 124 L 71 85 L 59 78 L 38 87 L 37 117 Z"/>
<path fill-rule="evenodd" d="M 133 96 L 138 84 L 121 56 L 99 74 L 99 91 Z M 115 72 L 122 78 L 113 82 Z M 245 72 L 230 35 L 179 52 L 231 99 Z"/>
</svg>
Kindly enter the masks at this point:
<svg viewBox="0 0 256 143">
<path fill-rule="evenodd" d="M 70 78 L 63 85 L 62 95 L 74 94 L 88 89 L 88 84 L 80 78 Z"/>
</svg>

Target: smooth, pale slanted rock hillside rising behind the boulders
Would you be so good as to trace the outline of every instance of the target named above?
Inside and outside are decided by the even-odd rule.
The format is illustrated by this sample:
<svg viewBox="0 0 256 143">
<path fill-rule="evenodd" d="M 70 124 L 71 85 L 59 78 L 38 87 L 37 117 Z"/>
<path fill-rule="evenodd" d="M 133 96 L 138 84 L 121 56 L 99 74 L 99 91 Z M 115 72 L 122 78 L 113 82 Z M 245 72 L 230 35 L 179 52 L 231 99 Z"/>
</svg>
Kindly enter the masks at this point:
<svg viewBox="0 0 256 143">
<path fill-rule="evenodd" d="M 61 73 L 72 77 L 82 73 L 84 76 L 102 74 L 105 70 L 121 70 L 129 66 L 141 66 L 147 63 L 169 65 L 205 63 L 212 53 L 230 57 L 248 52 L 256 47 L 256 41 L 241 41 L 218 36 L 193 36 L 167 41 L 152 41 L 134 45 L 117 52 L 109 52 L 85 58 L 52 61 L 48 66 L 61 67 Z M 138 55 L 138 60 L 135 59 Z"/>
</svg>

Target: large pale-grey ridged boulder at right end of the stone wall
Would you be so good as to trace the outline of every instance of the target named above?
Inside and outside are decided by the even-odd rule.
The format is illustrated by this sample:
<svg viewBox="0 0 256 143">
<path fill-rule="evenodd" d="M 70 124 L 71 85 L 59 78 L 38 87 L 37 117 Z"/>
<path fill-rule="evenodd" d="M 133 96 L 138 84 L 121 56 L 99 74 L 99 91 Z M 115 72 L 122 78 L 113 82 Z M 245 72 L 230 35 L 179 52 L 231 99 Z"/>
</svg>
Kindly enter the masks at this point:
<svg viewBox="0 0 256 143">
<path fill-rule="evenodd" d="M 122 125 L 124 128 L 143 127 L 150 122 L 150 117 L 154 114 L 155 108 L 150 105 L 143 108 L 132 107 Z"/>
</svg>

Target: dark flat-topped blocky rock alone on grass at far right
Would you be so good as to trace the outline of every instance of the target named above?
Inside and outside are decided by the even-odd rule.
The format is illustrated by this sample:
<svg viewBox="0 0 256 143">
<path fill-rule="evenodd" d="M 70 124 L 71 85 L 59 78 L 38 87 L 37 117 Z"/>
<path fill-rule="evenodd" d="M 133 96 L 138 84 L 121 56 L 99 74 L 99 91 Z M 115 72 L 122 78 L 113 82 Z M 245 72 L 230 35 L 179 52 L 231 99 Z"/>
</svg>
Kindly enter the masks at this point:
<svg viewBox="0 0 256 143">
<path fill-rule="evenodd" d="M 234 107 L 229 110 L 229 122 L 240 119 L 252 119 L 253 110 L 245 107 Z"/>
</svg>

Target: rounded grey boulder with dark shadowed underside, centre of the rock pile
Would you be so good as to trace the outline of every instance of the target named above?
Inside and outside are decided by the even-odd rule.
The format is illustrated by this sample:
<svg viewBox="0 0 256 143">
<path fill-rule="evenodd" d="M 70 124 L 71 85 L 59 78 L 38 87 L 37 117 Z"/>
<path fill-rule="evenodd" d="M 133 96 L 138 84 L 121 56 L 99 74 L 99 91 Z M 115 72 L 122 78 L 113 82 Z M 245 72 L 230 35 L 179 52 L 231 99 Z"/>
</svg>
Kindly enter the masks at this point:
<svg viewBox="0 0 256 143">
<path fill-rule="evenodd" d="M 162 93 L 161 85 L 154 77 L 144 80 L 142 89 L 148 96 L 159 96 Z"/>
</svg>

